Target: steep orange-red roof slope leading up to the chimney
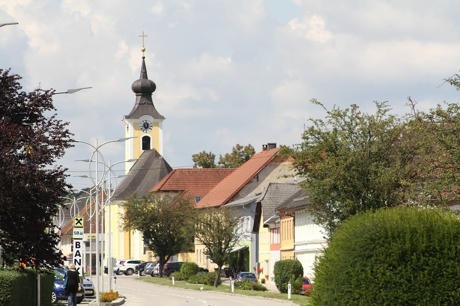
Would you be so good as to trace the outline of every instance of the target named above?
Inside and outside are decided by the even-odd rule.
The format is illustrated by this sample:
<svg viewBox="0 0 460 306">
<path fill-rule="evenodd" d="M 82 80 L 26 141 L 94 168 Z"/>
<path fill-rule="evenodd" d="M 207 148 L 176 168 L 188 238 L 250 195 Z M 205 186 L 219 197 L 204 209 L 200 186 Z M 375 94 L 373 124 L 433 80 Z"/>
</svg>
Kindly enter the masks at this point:
<svg viewBox="0 0 460 306">
<path fill-rule="evenodd" d="M 229 174 L 208 195 L 196 205 L 197 208 L 216 207 L 224 205 L 231 199 L 252 177 L 256 176 L 273 158 L 280 148 L 262 151 L 249 159 L 232 174 Z"/>
</svg>

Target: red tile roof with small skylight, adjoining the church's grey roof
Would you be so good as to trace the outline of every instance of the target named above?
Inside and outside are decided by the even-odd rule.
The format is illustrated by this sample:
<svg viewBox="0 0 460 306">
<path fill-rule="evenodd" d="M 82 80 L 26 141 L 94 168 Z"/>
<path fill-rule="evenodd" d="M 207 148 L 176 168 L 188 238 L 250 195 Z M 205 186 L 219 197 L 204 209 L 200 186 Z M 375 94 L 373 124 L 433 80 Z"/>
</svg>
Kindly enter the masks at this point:
<svg viewBox="0 0 460 306">
<path fill-rule="evenodd" d="M 235 170 L 233 168 L 174 169 L 153 186 L 150 192 L 183 192 L 183 196 L 192 197 L 191 202 L 195 205 L 195 196 L 204 197 Z"/>
</svg>

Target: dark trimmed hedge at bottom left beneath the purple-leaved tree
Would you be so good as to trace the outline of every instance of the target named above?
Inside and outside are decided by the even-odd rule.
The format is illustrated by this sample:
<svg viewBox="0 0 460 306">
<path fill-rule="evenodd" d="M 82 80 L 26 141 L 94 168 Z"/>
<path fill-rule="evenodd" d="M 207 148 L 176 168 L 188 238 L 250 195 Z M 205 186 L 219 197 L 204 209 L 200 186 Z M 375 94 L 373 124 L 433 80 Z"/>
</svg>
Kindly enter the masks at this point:
<svg viewBox="0 0 460 306">
<path fill-rule="evenodd" d="M 40 305 L 51 305 L 54 276 L 42 272 Z M 37 277 L 34 269 L 0 269 L 0 305 L 21 306 L 37 304 Z"/>
</svg>

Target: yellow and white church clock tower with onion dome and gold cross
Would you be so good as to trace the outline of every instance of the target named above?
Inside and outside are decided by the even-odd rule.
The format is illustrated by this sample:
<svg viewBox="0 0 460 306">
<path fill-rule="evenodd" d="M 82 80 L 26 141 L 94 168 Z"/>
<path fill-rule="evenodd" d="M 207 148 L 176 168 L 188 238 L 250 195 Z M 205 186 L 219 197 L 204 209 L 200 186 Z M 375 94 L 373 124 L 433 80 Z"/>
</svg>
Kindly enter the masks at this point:
<svg viewBox="0 0 460 306">
<path fill-rule="evenodd" d="M 144 41 L 144 33 L 142 38 Z M 145 47 L 142 46 L 141 77 L 132 83 L 131 89 L 136 95 L 136 101 L 129 115 L 123 117 L 126 136 L 135 137 L 126 141 L 126 160 L 139 158 L 143 151 L 156 149 L 163 156 L 163 120 L 155 109 L 152 93 L 156 89 L 155 83 L 147 77 L 145 67 Z M 133 162 L 126 163 L 126 173 Z"/>
</svg>

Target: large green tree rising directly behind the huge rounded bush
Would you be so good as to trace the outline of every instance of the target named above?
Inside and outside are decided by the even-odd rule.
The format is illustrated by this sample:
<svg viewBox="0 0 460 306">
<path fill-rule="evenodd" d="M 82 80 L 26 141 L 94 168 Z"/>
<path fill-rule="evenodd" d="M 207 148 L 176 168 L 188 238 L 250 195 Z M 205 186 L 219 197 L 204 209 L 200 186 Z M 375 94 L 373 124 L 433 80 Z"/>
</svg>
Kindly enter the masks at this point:
<svg viewBox="0 0 460 306">
<path fill-rule="evenodd" d="M 280 149 L 280 155 L 295 158 L 309 209 L 330 235 L 360 211 L 408 204 L 423 179 L 413 121 L 389 114 L 386 103 L 375 105 L 375 114 L 363 114 L 356 105 L 326 110 L 326 121 L 309 119 L 313 124 L 301 144 Z"/>
</svg>

